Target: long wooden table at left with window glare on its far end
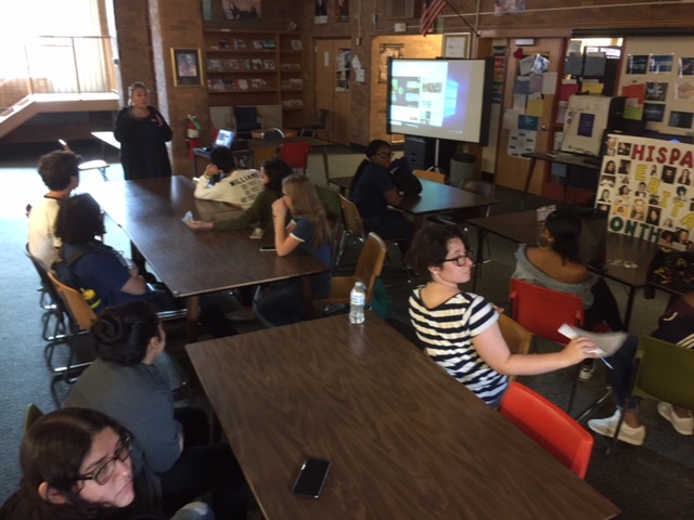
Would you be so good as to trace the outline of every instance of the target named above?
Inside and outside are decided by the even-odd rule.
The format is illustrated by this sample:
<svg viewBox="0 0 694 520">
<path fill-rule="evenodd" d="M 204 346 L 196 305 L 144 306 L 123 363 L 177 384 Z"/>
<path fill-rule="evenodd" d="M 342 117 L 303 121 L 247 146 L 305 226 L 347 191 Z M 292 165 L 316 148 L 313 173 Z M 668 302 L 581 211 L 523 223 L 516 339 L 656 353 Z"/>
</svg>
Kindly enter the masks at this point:
<svg viewBox="0 0 694 520">
<path fill-rule="evenodd" d="M 189 339 L 196 338 L 200 296 L 300 277 L 304 302 L 311 307 L 311 274 L 329 266 L 303 251 L 286 257 L 261 252 L 265 240 L 252 239 L 250 230 L 194 232 L 182 218 L 220 220 L 240 214 L 233 206 L 201 200 L 195 183 L 181 176 L 108 182 L 91 192 L 147 261 L 152 272 L 176 298 L 185 298 Z"/>
</svg>

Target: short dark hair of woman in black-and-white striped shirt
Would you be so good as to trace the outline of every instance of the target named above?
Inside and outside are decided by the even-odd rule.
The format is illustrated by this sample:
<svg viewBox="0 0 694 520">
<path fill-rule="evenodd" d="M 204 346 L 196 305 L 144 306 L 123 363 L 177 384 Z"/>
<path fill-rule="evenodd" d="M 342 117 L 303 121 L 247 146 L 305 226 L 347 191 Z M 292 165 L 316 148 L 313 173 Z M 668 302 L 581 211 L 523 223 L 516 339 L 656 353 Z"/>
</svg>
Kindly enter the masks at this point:
<svg viewBox="0 0 694 520">
<path fill-rule="evenodd" d="M 448 243 L 453 238 L 460 238 L 470 252 L 470 242 L 463 230 L 457 225 L 433 224 L 420 229 L 412 238 L 406 262 L 419 275 L 425 275 L 430 280 L 428 268 L 440 268 L 448 256 Z"/>
</svg>

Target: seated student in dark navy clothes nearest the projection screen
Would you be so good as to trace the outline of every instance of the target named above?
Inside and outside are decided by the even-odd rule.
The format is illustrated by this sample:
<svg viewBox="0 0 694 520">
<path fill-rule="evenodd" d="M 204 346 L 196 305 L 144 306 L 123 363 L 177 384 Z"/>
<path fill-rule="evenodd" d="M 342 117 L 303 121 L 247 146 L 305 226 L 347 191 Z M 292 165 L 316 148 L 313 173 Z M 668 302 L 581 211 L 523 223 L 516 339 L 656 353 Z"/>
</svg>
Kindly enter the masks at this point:
<svg viewBox="0 0 694 520">
<path fill-rule="evenodd" d="M 360 165 L 352 180 L 351 199 L 359 208 L 367 232 L 373 231 L 382 238 L 409 238 L 414 233 L 414 224 L 391 211 L 388 205 L 398 206 L 402 197 L 390 179 L 388 166 L 393 158 L 390 145 L 380 139 L 367 146 L 365 162 Z M 404 253 L 409 240 L 398 243 Z"/>
</svg>

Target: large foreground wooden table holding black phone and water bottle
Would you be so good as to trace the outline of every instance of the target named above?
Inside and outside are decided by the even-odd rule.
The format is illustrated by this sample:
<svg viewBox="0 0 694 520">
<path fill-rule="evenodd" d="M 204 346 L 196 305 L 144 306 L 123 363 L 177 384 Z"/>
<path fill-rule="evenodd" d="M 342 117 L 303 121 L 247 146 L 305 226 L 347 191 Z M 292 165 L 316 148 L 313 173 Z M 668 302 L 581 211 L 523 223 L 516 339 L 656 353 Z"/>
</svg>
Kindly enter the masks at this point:
<svg viewBox="0 0 694 520">
<path fill-rule="evenodd" d="M 187 350 L 268 520 L 619 512 L 373 312 Z M 318 499 L 292 493 L 309 457 L 332 463 Z"/>
</svg>

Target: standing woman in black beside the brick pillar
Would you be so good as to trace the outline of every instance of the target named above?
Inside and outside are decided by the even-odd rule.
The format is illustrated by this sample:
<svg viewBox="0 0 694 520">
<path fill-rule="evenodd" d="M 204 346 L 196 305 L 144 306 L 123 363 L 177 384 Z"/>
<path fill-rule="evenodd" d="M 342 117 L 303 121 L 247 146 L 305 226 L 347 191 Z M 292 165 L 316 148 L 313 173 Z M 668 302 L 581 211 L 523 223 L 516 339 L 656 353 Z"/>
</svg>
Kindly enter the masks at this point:
<svg viewBox="0 0 694 520">
<path fill-rule="evenodd" d="M 146 84 L 136 82 L 128 89 L 130 105 L 118 114 L 114 136 L 120 142 L 120 162 L 125 179 L 170 177 L 171 164 L 166 144 L 174 136 L 171 128 L 150 105 Z"/>
</svg>

